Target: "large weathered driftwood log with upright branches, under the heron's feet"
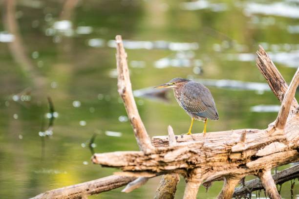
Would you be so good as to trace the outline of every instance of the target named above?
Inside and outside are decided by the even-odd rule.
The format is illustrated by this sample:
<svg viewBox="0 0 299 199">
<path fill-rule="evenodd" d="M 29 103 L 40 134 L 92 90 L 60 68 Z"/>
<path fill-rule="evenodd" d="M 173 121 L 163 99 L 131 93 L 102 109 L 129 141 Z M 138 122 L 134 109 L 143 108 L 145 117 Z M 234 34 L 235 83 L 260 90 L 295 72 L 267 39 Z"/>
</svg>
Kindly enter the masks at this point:
<svg viewBox="0 0 299 199">
<path fill-rule="evenodd" d="M 205 137 L 201 133 L 176 135 L 174 139 L 173 135 L 155 136 L 150 143 L 132 96 L 127 54 L 120 36 L 116 37 L 116 43 L 118 91 L 124 100 L 141 151 L 94 154 L 93 163 L 119 168 L 122 172 L 117 175 L 132 177 L 130 181 L 135 180 L 135 177 L 181 174 L 187 182 L 184 199 L 195 199 L 198 187 L 204 180 L 219 177 L 224 178 L 225 183 L 217 198 L 230 199 L 239 180 L 248 175 L 260 178 L 271 199 L 280 198 L 270 170 L 299 161 L 299 109 L 294 99 L 299 84 L 299 69 L 290 87 L 287 87 L 260 46 L 257 67 L 282 102 L 278 118 L 267 129 L 213 132 Z M 173 144 L 173 140 L 176 144 Z"/>
</svg>

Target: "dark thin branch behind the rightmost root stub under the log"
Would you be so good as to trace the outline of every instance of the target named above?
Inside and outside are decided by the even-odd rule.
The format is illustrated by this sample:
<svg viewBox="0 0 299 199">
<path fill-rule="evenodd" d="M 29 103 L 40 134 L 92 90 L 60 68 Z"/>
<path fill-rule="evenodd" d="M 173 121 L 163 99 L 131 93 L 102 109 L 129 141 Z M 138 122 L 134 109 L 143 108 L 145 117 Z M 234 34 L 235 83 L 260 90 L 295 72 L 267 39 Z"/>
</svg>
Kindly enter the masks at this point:
<svg viewBox="0 0 299 199">
<path fill-rule="evenodd" d="M 272 178 L 275 179 L 276 184 L 282 184 L 286 181 L 296 179 L 299 177 L 299 164 L 288 169 L 284 169 L 277 174 L 272 175 Z M 263 189 L 263 184 L 259 179 L 253 179 L 245 182 L 245 186 L 240 186 L 235 188 L 233 197 L 246 196 L 249 193 Z"/>
</svg>

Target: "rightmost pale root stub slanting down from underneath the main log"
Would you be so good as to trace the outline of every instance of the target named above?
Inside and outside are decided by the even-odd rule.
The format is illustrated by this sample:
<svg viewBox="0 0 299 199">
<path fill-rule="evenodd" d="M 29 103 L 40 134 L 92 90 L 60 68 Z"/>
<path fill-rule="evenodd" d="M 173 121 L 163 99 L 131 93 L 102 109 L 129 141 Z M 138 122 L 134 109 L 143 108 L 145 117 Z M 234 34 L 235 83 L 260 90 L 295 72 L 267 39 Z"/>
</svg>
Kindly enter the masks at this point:
<svg viewBox="0 0 299 199">
<path fill-rule="evenodd" d="M 272 178 L 271 169 L 259 172 L 257 176 L 262 182 L 263 187 L 266 190 L 266 194 L 270 199 L 281 199 L 281 196 L 279 195 L 278 190 L 276 188 L 274 179 Z"/>
</svg>

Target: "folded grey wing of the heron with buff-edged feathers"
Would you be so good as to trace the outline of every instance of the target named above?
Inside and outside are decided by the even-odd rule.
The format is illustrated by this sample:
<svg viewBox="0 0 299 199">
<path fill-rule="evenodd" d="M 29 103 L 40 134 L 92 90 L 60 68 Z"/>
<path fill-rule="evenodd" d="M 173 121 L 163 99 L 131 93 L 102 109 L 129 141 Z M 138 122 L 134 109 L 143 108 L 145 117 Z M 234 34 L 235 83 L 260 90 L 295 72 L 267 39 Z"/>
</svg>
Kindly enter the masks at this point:
<svg viewBox="0 0 299 199">
<path fill-rule="evenodd" d="M 182 105 L 187 111 L 210 119 L 218 119 L 215 102 L 208 88 L 197 82 L 189 82 L 182 90 Z"/>
</svg>

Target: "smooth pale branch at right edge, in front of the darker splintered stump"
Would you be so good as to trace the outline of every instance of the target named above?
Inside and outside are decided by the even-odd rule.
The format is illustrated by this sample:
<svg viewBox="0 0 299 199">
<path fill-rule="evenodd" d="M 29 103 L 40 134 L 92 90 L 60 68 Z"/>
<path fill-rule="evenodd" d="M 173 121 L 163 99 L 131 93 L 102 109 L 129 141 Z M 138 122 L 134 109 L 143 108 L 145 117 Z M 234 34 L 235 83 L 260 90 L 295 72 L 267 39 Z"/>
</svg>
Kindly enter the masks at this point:
<svg viewBox="0 0 299 199">
<path fill-rule="evenodd" d="M 297 69 L 297 72 L 295 73 L 292 82 L 290 84 L 290 87 L 287 89 L 283 101 L 280 106 L 280 110 L 278 112 L 278 117 L 276 119 L 275 127 L 277 129 L 283 130 L 285 123 L 287 121 L 291 103 L 294 101 L 296 89 L 299 85 L 299 68 Z M 297 108 L 297 107 L 296 107 Z"/>
</svg>

